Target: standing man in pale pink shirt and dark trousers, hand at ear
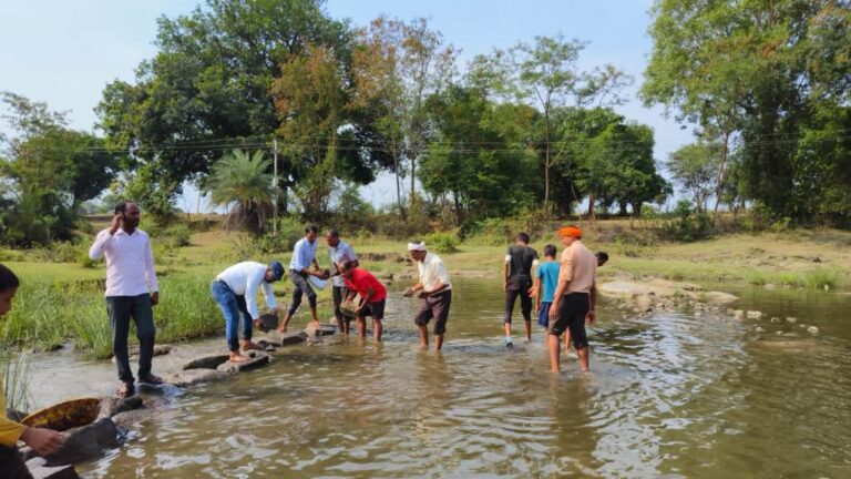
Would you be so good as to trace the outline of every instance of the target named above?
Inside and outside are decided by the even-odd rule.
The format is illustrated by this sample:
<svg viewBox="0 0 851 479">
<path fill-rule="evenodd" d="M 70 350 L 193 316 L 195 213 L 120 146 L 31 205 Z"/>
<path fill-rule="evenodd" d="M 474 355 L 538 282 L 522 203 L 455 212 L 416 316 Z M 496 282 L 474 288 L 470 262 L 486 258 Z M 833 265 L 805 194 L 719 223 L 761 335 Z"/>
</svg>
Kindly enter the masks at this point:
<svg viewBox="0 0 851 479">
<path fill-rule="evenodd" d="M 106 310 L 112 325 L 112 348 L 119 367 L 122 385 L 116 391 L 120 397 L 135 394 L 133 371 L 127 356 L 130 319 L 136 324 L 139 338 L 139 380 L 162 384 L 151 374 L 154 357 L 154 309 L 160 303 L 154 254 L 147 233 L 139 230 L 141 212 L 135 203 L 122 202 L 115 206 L 115 216 L 106 230 L 98 233 L 89 249 L 89 257 L 100 259 L 106 256 Z"/>
</svg>

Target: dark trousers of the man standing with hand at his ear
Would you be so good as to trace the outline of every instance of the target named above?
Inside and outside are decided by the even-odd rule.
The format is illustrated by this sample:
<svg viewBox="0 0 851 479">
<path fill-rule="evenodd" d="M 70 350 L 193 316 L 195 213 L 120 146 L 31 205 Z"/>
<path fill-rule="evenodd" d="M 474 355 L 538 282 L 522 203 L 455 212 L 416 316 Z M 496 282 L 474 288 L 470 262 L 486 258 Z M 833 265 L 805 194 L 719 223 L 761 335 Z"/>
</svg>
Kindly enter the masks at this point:
<svg viewBox="0 0 851 479">
<path fill-rule="evenodd" d="M 145 293 L 139 296 L 107 296 L 106 310 L 110 314 L 110 325 L 112 326 L 112 350 L 119 367 L 119 379 L 124 383 L 133 383 L 133 371 L 130 369 L 130 356 L 127 354 L 131 317 L 136 324 L 136 338 L 139 338 L 139 377 L 148 376 L 156 337 L 151 295 Z"/>
</svg>

